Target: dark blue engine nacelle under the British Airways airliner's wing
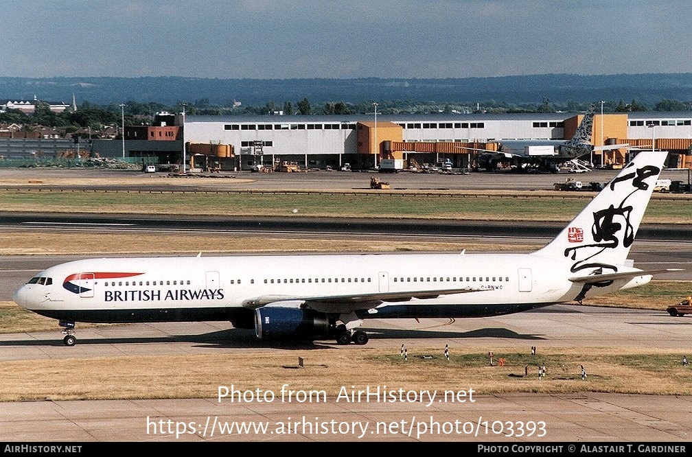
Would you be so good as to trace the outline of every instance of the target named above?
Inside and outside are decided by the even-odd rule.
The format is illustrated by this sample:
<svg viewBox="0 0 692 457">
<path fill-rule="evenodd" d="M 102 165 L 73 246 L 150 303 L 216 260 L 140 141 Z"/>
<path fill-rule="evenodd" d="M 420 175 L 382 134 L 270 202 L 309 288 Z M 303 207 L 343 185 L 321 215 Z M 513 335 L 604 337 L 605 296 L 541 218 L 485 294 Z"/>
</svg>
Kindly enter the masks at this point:
<svg viewBox="0 0 692 457">
<path fill-rule="evenodd" d="M 315 339 L 328 333 L 325 313 L 280 306 L 255 310 L 255 335 L 259 339 Z"/>
</svg>

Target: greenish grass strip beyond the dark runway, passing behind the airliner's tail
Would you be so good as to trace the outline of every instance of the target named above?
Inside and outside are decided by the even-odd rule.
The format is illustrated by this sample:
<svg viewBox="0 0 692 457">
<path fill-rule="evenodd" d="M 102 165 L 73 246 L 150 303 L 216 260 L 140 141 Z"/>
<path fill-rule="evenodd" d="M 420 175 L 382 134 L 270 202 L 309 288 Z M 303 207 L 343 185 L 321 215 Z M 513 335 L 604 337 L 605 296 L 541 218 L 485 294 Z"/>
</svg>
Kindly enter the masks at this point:
<svg viewBox="0 0 692 457">
<path fill-rule="evenodd" d="M 570 221 L 592 196 L 497 194 L 116 193 L 0 191 L 0 211 L 102 214 L 215 214 L 219 216 L 334 216 L 456 218 L 481 221 Z M 692 205 L 654 199 L 644 223 L 692 223 Z M 296 210 L 294 212 L 293 210 Z"/>
</svg>

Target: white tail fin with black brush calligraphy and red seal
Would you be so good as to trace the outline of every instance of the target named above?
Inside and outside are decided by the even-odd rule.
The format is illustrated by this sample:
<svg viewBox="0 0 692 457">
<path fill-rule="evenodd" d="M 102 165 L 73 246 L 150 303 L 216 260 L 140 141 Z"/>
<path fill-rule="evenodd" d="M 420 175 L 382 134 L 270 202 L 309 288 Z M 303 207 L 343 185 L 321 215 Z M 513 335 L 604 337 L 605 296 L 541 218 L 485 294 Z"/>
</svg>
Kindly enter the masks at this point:
<svg viewBox="0 0 692 457">
<path fill-rule="evenodd" d="M 626 263 L 667 154 L 640 152 L 536 255 L 570 264 L 572 272 L 588 268 L 617 272 Z"/>
</svg>

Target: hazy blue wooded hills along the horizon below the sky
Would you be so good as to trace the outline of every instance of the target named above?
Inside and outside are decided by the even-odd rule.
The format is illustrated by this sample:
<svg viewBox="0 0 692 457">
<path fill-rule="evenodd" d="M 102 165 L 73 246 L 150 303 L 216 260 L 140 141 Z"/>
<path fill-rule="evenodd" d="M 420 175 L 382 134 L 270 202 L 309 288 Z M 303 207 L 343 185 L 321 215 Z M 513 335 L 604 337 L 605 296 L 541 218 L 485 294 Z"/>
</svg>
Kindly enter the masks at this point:
<svg viewBox="0 0 692 457">
<path fill-rule="evenodd" d="M 493 100 L 505 104 L 569 106 L 623 100 L 654 106 L 661 100 L 692 100 L 692 73 L 640 75 L 525 75 L 446 79 L 356 78 L 291 80 L 223 80 L 192 77 L 0 77 L 0 100 L 39 100 L 77 104 L 157 102 L 174 105 L 208 100 L 230 106 L 298 102 L 313 104 L 408 100 L 466 103 Z"/>
</svg>

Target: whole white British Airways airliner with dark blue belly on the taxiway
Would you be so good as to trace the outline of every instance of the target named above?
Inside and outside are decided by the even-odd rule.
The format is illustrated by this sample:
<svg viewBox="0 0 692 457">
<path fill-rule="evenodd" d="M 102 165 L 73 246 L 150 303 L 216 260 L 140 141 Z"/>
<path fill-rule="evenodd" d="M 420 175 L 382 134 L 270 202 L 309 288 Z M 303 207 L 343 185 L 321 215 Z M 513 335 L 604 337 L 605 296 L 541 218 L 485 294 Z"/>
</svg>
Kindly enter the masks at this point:
<svg viewBox="0 0 692 457">
<path fill-rule="evenodd" d="M 628 261 L 665 152 L 642 151 L 531 253 L 316 254 L 86 259 L 40 272 L 17 304 L 75 321 L 230 321 L 261 339 L 367 343 L 367 318 L 487 317 L 647 283 Z"/>
</svg>

